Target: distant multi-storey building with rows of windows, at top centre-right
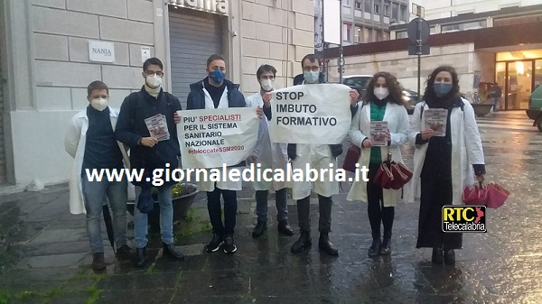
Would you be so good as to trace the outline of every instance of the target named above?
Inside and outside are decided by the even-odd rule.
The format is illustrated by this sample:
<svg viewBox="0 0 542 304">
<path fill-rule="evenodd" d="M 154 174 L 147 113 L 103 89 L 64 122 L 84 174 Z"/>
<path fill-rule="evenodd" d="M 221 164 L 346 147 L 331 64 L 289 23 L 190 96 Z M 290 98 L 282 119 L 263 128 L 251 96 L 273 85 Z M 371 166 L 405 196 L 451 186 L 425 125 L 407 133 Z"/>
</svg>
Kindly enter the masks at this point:
<svg viewBox="0 0 542 304">
<path fill-rule="evenodd" d="M 314 45 L 322 44 L 322 2 L 314 1 Z M 408 23 L 408 0 L 341 0 L 342 44 L 352 45 L 389 40 L 389 26 Z"/>
</svg>

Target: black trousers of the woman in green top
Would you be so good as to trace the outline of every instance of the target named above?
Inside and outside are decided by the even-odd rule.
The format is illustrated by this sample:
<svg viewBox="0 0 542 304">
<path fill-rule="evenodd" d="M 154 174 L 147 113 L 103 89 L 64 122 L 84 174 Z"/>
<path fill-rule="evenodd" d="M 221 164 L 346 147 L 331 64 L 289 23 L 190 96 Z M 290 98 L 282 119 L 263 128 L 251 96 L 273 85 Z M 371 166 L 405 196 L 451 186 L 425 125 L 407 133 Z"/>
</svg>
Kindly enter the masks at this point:
<svg viewBox="0 0 542 304">
<path fill-rule="evenodd" d="M 373 183 L 380 164 L 369 164 L 369 181 L 367 182 L 367 213 L 373 239 L 380 238 L 380 222 L 384 226 L 384 239 L 391 238 L 391 229 L 395 217 L 395 207 L 384 207 L 382 188 Z"/>
</svg>

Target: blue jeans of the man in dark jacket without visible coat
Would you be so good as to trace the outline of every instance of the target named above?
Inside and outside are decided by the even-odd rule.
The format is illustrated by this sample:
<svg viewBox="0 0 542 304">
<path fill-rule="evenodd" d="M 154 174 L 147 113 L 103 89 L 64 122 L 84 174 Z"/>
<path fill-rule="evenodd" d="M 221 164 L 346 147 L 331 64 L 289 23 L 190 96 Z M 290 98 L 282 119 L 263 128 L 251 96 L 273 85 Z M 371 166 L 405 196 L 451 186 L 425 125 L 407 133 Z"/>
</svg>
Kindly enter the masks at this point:
<svg viewBox="0 0 542 304">
<path fill-rule="evenodd" d="M 141 187 L 135 187 L 135 206 L 141 193 Z M 165 244 L 173 244 L 173 186 L 158 188 L 158 203 L 160 204 L 160 235 Z M 134 208 L 135 246 L 143 248 L 148 243 L 148 218 L 145 213 Z"/>
</svg>

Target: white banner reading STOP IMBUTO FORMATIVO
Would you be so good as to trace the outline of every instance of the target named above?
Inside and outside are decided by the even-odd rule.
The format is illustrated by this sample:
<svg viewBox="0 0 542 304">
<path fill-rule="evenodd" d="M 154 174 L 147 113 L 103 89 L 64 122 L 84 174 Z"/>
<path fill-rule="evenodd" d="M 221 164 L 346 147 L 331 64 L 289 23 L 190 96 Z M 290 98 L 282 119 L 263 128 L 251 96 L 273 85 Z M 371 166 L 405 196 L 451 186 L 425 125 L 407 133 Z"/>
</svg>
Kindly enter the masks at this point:
<svg viewBox="0 0 542 304">
<path fill-rule="evenodd" d="M 342 143 L 350 130 L 350 88 L 345 85 L 294 86 L 272 96 L 273 143 Z"/>
</svg>

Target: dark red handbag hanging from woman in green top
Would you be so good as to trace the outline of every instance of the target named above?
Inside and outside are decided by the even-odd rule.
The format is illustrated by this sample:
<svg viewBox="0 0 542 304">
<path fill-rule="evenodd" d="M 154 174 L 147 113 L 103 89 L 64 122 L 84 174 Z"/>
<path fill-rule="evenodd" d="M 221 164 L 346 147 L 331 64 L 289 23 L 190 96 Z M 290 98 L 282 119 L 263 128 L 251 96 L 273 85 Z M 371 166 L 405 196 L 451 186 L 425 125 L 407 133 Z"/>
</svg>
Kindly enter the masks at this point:
<svg viewBox="0 0 542 304">
<path fill-rule="evenodd" d="M 401 189 L 412 179 L 412 172 L 405 164 L 391 161 L 391 153 L 388 152 L 388 160 L 382 161 L 373 181 L 383 189 Z"/>
</svg>

